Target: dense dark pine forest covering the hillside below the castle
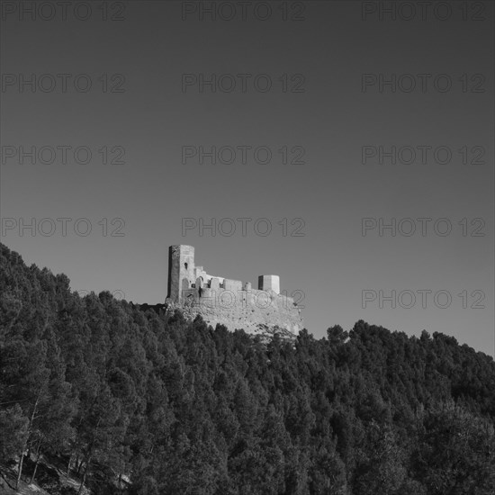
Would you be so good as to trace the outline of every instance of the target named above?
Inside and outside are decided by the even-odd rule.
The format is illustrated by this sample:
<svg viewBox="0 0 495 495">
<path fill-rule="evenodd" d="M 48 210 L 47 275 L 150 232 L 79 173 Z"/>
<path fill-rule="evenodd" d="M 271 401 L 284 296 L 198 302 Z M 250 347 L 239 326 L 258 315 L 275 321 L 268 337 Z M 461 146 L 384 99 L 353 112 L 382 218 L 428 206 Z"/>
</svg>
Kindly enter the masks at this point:
<svg viewBox="0 0 495 495">
<path fill-rule="evenodd" d="M 0 247 L 0 472 L 11 486 L 495 493 L 495 364 L 455 338 L 360 320 L 266 342 L 106 292 L 81 298 L 66 275 Z"/>
</svg>

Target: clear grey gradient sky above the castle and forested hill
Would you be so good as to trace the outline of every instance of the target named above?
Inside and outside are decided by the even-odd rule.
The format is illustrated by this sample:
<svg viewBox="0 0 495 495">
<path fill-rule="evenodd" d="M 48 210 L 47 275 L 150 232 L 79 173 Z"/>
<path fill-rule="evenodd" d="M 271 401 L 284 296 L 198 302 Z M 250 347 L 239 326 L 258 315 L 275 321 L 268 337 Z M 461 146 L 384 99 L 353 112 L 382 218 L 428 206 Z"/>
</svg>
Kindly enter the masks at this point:
<svg viewBox="0 0 495 495">
<path fill-rule="evenodd" d="M 466 21 L 463 2 L 456 1 L 449 3 L 452 15 L 445 21 L 432 10 L 425 20 L 418 14 L 410 21 L 386 15 L 380 21 L 378 14 L 365 20 L 362 15 L 364 6 L 376 2 L 288 2 L 290 18 L 302 4 L 303 20 L 286 22 L 283 2 L 275 0 L 266 21 L 250 7 L 245 21 L 240 11 L 231 21 L 212 22 L 207 14 L 204 20 L 198 14 L 183 20 L 187 3 L 179 1 L 109 2 L 109 17 L 118 15 L 121 4 L 123 19 L 103 21 L 102 3 L 90 4 L 92 15 L 85 21 L 72 6 L 65 21 L 59 10 L 54 20 L 34 21 L 29 14 L 4 11 L 0 205 L 7 247 L 28 265 L 67 274 L 74 290 L 107 289 L 132 302 L 156 303 L 166 297 L 168 246 L 190 244 L 196 264 L 208 273 L 253 284 L 257 275 L 276 274 L 289 295 L 302 291 L 302 314 L 317 338 L 332 325 L 350 329 L 363 319 L 410 335 L 444 332 L 495 353 L 493 3 L 485 2 L 482 13 L 468 6 Z M 19 80 L 31 74 L 37 81 L 43 74 L 69 74 L 67 92 L 59 78 L 52 91 L 21 92 Z M 92 81 L 87 93 L 72 85 L 79 74 Z M 121 93 L 108 91 L 122 80 L 112 79 L 114 74 L 125 77 Z M 266 74 L 274 85 L 266 93 L 249 83 L 246 93 L 213 94 L 208 87 L 200 92 L 198 85 L 183 91 L 183 74 Z M 284 74 L 289 88 L 297 82 L 291 76 L 304 76 L 304 92 L 284 93 L 279 80 Z M 381 92 L 378 85 L 364 92 L 363 74 L 432 79 L 424 93 L 419 87 L 392 93 L 389 86 Z M 452 80 L 444 93 L 433 85 L 440 74 Z M 401 80 L 408 83 L 407 77 Z M 49 76 L 44 83 L 47 87 Z M 473 92 L 476 88 L 484 91 Z M 53 164 L 32 165 L 28 157 L 19 163 L 21 146 L 61 145 L 90 148 L 92 159 L 76 163 L 69 150 L 66 164 L 60 152 Z M 125 163 L 104 165 L 98 149 L 115 146 L 124 148 Z M 240 157 L 231 165 L 208 160 L 201 165 L 197 158 L 183 164 L 184 146 L 266 146 L 273 157 L 266 165 L 251 155 L 246 164 Z M 304 163 L 281 163 L 278 149 L 284 146 L 303 147 Z M 428 154 L 425 164 L 418 156 L 412 164 L 393 165 L 374 157 L 363 164 L 364 146 L 445 146 L 452 158 L 441 164 Z M 464 146 L 467 165 L 458 151 Z M 484 164 L 471 163 L 479 149 L 473 147 L 482 147 Z M 16 156 L 9 157 L 13 150 Z M 62 217 L 72 219 L 66 236 L 55 220 Z M 241 217 L 253 219 L 246 236 L 235 220 Z M 20 235 L 19 223 L 31 218 L 53 219 L 53 235 L 32 235 L 30 229 Z M 85 237 L 74 231 L 81 218 L 92 225 Z M 183 235 L 184 218 L 233 219 L 238 229 L 230 237 L 218 232 L 213 237 L 208 229 L 200 235 L 197 228 Z M 266 237 L 253 229 L 261 218 L 272 223 Z M 378 228 L 364 236 L 364 218 L 377 224 L 392 218 L 432 221 L 425 236 L 419 223 L 410 237 L 400 231 L 393 237 L 386 229 L 380 236 Z M 433 227 L 440 218 L 452 224 L 447 236 Z M 106 236 L 98 223 L 103 219 Z M 121 221 L 112 225 L 112 219 L 125 222 L 123 236 L 110 235 Z M 286 236 L 278 224 L 283 219 Z M 292 226 L 293 219 L 304 221 L 303 236 L 290 235 L 299 225 Z M 463 219 L 465 232 L 458 224 Z M 482 220 L 472 225 L 473 219 Z M 84 223 L 79 226 L 84 231 Z M 409 229 L 406 222 L 401 226 Z M 472 235 L 478 227 L 483 236 Z M 49 223 L 43 228 L 49 231 Z M 423 290 L 431 291 L 426 308 L 418 293 Z M 363 291 L 377 295 L 365 308 Z M 388 301 L 380 307 L 379 291 L 385 296 L 396 291 L 397 297 L 411 291 L 417 301 L 402 308 L 400 302 L 410 303 L 404 293 L 395 309 Z M 437 291 L 452 295 L 448 308 L 435 304 Z M 463 292 L 466 308 L 458 295 Z M 442 305 L 445 298 L 438 296 Z"/>
</svg>

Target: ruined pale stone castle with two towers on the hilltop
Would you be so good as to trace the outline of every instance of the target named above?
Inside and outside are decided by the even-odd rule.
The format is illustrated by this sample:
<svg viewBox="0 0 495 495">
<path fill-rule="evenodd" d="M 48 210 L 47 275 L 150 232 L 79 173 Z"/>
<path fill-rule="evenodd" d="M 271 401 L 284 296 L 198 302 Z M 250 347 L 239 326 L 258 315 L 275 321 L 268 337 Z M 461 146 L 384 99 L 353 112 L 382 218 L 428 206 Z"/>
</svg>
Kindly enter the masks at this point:
<svg viewBox="0 0 495 495">
<path fill-rule="evenodd" d="M 278 275 L 260 275 L 258 287 L 249 282 L 208 275 L 194 265 L 194 247 L 168 248 L 168 284 L 166 303 L 186 310 L 191 318 L 201 314 L 203 320 L 228 329 L 285 329 L 297 335 L 303 328 L 301 309 L 293 298 L 280 293 Z"/>
</svg>

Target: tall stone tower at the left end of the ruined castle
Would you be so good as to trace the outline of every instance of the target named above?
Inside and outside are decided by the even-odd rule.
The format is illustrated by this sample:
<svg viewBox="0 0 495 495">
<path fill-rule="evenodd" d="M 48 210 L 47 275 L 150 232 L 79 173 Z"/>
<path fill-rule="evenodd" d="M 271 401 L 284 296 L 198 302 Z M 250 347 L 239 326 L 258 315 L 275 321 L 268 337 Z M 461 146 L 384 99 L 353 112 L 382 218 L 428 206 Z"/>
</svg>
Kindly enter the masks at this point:
<svg viewBox="0 0 495 495">
<path fill-rule="evenodd" d="M 194 280 L 194 247 L 184 244 L 168 247 L 168 295 L 173 302 L 182 302 L 183 291 Z"/>
</svg>

